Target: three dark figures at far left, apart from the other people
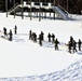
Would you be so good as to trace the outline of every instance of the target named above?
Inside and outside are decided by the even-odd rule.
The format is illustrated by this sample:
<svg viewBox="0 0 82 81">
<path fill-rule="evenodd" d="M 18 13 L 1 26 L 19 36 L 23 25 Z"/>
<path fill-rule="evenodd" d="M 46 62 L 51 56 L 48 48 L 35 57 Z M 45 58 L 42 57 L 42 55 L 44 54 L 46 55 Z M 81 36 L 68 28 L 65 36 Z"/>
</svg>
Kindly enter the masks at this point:
<svg viewBox="0 0 82 81">
<path fill-rule="evenodd" d="M 14 33 L 15 35 L 17 33 L 17 26 L 16 25 L 14 27 Z M 8 29 L 5 27 L 3 27 L 3 35 L 4 35 L 4 38 L 8 38 L 9 41 L 12 41 L 12 37 L 13 37 L 12 29 L 10 29 L 10 32 L 8 33 Z"/>
</svg>

